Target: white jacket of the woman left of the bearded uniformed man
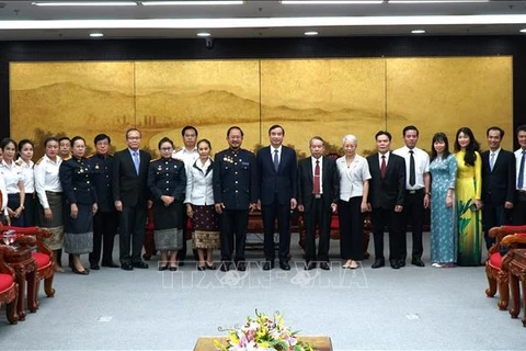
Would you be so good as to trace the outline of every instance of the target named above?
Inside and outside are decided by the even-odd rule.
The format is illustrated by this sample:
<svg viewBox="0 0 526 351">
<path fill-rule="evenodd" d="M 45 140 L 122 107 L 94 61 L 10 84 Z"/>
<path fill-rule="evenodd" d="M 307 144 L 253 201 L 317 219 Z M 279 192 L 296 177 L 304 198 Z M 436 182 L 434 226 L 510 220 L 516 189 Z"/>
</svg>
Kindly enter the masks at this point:
<svg viewBox="0 0 526 351">
<path fill-rule="evenodd" d="M 197 206 L 214 205 L 214 189 L 211 183 L 214 171 L 211 169 L 208 171 L 210 167 L 210 159 L 208 159 L 205 165 L 202 165 L 201 159 L 197 159 L 192 167 L 187 169 L 185 204 Z M 207 171 L 208 173 L 206 173 Z"/>
</svg>

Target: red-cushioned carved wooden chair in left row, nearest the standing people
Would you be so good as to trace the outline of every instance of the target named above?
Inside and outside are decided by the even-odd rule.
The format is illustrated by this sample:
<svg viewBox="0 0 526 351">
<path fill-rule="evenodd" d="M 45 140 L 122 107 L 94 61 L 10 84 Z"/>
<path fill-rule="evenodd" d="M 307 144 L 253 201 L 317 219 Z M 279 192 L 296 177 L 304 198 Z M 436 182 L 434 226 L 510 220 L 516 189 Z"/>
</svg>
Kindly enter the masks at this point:
<svg viewBox="0 0 526 351">
<path fill-rule="evenodd" d="M 44 280 L 44 292 L 47 297 L 55 296 L 55 288 L 53 288 L 53 279 L 55 278 L 55 269 L 53 267 L 52 250 L 44 244 L 44 238 L 49 238 L 52 233 L 46 228 L 41 227 L 10 227 L 0 226 L 0 233 L 7 230 L 14 230 L 19 235 L 33 236 L 36 239 L 36 251 L 33 251 L 33 258 L 37 265 L 37 286 L 38 292 L 39 282 Z"/>
</svg>

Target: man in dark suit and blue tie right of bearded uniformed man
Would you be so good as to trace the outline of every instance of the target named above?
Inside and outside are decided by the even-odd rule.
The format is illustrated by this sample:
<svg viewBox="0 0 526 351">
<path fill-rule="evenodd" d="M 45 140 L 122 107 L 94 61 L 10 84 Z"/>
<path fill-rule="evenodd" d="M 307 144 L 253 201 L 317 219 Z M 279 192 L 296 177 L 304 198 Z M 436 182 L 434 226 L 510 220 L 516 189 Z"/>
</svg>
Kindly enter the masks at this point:
<svg viewBox="0 0 526 351">
<path fill-rule="evenodd" d="M 277 218 L 279 233 L 279 268 L 290 270 L 288 251 L 290 250 L 290 210 L 296 208 L 297 160 L 296 151 L 283 146 L 285 129 L 281 125 L 268 128 L 271 145 L 256 155 L 258 184 L 260 200 L 258 208 L 263 218 L 265 263 L 263 270 L 274 268 L 274 223 Z"/>
</svg>

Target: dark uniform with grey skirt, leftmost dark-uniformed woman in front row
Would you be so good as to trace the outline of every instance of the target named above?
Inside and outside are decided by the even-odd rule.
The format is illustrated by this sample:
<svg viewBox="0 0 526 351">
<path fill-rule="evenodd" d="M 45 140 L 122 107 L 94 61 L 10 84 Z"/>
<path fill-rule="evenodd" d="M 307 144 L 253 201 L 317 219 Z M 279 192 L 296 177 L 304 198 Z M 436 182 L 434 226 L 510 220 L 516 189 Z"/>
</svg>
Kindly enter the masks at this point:
<svg viewBox="0 0 526 351">
<path fill-rule="evenodd" d="M 58 172 L 65 197 L 64 249 L 68 253 L 89 253 L 93 250 L 93 204 L 96 191 L 93 168 L 87 158 L 64 160 Z M 77 218 L 71 217 L 71 204 L 77 204 Z"/>
</svg>

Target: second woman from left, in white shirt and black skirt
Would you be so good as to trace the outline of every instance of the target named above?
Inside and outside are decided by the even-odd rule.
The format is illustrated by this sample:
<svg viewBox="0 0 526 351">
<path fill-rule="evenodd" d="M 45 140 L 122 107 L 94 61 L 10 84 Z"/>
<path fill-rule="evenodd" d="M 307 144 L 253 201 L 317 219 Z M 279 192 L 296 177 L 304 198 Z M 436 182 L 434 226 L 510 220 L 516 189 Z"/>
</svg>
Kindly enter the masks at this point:
<svg viewBox="0 0 526 351">
<path fill-rule="evenodd" d="M 32 160 L 33 149 L 34 146 L 31 140 L 20 140 L 16 165 L 22 169 L 22 174 L 24 176 L 24 227 L 36 226 L 35 163 Z"/>
</svg>

